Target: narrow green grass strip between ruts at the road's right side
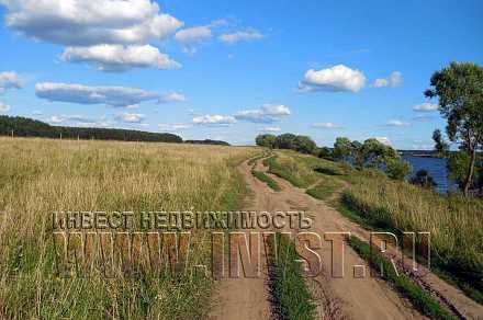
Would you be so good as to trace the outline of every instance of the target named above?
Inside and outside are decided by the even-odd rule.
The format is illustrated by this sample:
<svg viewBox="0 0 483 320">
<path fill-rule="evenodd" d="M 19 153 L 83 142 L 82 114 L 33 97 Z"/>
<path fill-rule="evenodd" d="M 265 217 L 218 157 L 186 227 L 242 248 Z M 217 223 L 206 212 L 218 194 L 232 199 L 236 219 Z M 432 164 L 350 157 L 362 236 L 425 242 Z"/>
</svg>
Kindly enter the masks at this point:
<svg viewBox="0 0 483 320">
<path fill-rule="evenodd" d="M 397 275 L 390 261 L 381 254 L 371 251 L 368 243 L 351 237 L 349 241 L 350 247 L 363 259 L 370 261 L 373 267 L 382 266 L 384 270 L 384 278 L 400 292 L 407 297 L 413 306 L 417 308 L 423 315 L 431 319 L 457 319 L 445 306 L 439 304 L 427 292 L 413 283 L 403 274 Z"/>
</svg>

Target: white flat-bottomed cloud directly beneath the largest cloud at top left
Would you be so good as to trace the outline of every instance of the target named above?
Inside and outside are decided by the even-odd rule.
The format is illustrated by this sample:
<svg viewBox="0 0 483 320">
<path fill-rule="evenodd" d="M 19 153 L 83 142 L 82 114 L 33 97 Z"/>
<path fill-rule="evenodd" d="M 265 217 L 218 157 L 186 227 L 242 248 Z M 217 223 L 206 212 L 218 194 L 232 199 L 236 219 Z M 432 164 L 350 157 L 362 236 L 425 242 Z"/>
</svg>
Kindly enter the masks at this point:
<svg viewBox="0 0 483 320">
<path fill-rule="evenodd" d="M 64 61 L 88 62 L 102 71 L 125 71 L 131 68 L 177 69 L 181 65 L 150 45 L 97 45 L 67 47 L 60 56 Z"/>
</svg>

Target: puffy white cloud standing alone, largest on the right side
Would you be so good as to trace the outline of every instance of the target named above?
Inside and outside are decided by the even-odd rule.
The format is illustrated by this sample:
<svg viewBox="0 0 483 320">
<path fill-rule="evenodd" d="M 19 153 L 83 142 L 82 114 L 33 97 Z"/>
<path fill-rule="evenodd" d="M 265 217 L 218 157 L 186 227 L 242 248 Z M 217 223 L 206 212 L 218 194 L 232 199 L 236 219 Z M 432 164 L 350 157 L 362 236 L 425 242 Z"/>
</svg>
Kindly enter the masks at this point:
<svg viewBox="0 0 483 320">
<path fill-rule="evenodd" d="M 305 72 L 304 79 L 299 83 L 299 89 L 302 92 L 358 92 L 364 84 L 366 76 L 362 71 L 338 65 L 322 70 L 310 69 Z"/>
</svg>

